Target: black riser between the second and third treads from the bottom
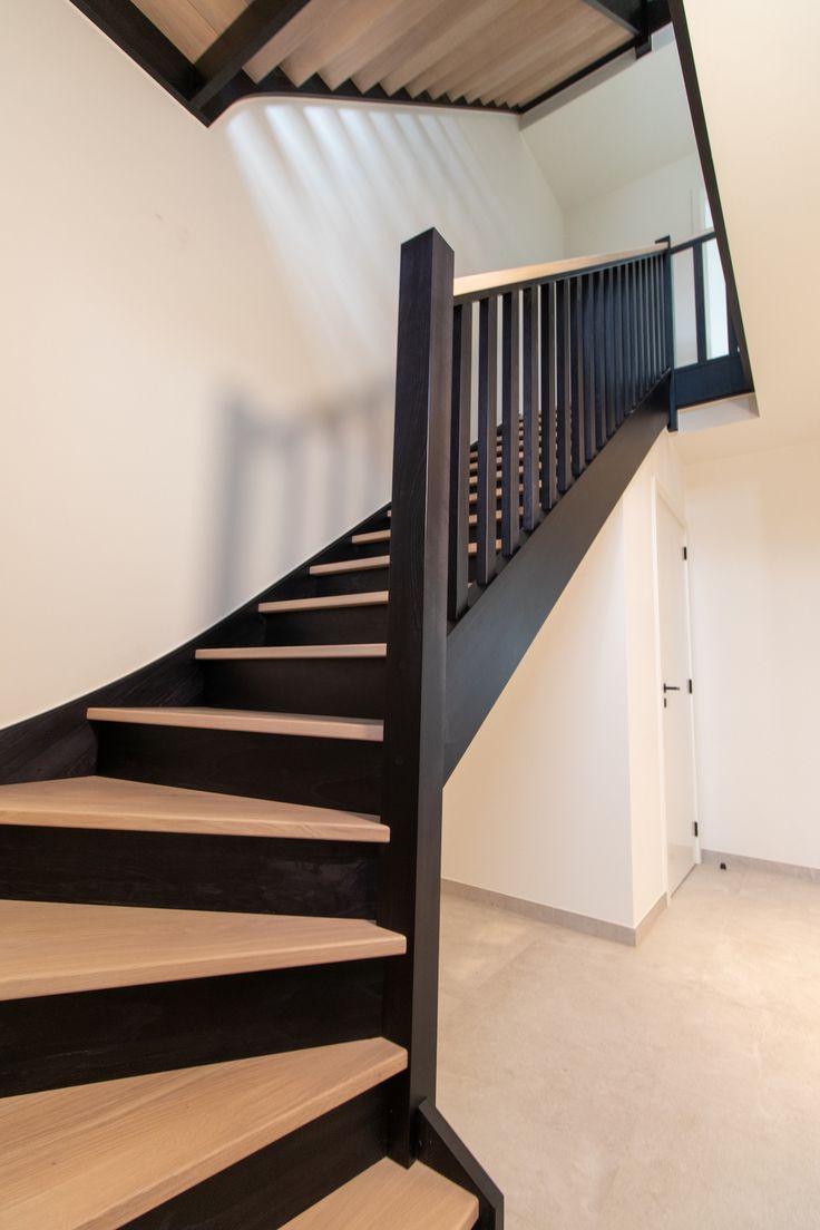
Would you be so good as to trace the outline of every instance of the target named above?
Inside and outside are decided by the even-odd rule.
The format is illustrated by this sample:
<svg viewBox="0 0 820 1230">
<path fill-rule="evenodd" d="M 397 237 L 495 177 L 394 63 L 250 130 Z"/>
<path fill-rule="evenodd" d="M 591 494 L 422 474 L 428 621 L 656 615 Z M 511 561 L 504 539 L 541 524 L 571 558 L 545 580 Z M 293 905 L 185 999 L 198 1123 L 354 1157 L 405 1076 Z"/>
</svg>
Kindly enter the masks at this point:
<svg viewBox="0 0 820 1230">
<path fill-rule="evenodd" d="M 381 1032 L 382 961 L 0 1002 L 0 1096 Z"/>
</svg>

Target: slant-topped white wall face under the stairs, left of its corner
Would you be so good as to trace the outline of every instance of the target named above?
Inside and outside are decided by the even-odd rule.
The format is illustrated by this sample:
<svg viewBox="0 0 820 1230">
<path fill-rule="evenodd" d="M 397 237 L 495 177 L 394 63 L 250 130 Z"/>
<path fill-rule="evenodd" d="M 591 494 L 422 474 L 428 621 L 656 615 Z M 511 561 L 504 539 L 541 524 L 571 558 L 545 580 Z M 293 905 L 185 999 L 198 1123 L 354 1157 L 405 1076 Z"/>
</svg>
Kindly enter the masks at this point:
<svg viewBox="0 0 820 1230">
<path fill-rule="evenodd" d="M 632 926 L 622 509 L 444 791 L 443 876 Z"/>
</svg>

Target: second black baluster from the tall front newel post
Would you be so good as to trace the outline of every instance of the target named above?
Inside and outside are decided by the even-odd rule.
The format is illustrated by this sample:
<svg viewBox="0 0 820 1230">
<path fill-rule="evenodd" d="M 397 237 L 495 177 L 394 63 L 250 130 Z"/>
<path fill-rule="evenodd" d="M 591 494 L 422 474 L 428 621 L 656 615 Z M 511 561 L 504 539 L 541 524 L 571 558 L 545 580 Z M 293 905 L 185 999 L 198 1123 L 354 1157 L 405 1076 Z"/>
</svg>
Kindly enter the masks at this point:
<svg viewBox="0 0 820 1230">
<path fill-rule="evenodd" d="M 498 299 L 478 305 L 478 482 L 476 487 L 476 581 L 495 574 L 495 470 L 498 440 Z"/>
</svg>

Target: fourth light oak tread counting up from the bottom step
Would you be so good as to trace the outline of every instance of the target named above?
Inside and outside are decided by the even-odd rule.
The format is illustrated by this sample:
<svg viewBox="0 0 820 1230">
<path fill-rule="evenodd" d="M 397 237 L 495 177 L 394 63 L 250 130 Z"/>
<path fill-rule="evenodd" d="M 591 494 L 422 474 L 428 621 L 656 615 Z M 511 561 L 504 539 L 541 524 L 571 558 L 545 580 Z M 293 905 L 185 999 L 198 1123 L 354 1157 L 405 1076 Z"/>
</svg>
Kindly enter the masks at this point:
<svg viewBox="0 0 820 1230">
<path fill-rule="evenodd" d="M 0 824 L 138 829 L 312 841 L 388 841 L 375 815 L 116 777 L 0 786 Z"/>
</svg>

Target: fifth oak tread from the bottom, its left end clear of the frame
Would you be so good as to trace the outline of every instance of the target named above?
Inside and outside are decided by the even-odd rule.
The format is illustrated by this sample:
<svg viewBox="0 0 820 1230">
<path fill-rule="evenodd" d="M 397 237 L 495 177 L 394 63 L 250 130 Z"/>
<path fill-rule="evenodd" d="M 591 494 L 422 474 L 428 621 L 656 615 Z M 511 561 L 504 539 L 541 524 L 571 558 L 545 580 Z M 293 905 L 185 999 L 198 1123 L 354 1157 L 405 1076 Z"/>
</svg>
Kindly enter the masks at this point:
<svg viewBox="0 0 820 1230">
<path fill-rule="evenodd" d="M 97 708 L 90 722 L 130 722 L 136 726 L 181 726 L 195 731 L 288 734 L 309 739 L 363 739 L 381 743 L 384 722 L 375 717 L 326 717 L 321 713 L 267 713 L 254 708 Z"/>
</svg>

